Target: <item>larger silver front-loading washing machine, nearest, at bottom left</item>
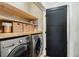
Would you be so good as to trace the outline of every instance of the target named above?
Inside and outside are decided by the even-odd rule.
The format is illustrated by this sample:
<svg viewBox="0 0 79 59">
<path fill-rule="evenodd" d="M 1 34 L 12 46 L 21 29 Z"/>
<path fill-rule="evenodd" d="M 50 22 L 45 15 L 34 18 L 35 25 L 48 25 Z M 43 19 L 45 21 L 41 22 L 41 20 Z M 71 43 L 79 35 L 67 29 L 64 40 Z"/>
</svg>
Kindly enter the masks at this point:
<svg viewBox="0 0 79 59">
<path fill-rule="evenodd" d="M 30 37 L 16 37 L 0 41 L 1 57 L 31 57 Z"/>
</svg>

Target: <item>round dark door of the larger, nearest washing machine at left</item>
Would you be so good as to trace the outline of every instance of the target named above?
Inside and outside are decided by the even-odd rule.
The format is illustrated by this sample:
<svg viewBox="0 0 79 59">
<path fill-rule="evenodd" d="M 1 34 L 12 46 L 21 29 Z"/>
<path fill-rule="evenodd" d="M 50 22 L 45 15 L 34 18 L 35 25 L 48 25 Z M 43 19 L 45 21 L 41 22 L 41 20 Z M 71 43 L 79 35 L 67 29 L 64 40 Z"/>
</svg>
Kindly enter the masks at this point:
<svg viewBox="0 0 79 59">
<path fill-rule="evenodd" d="M 29 57 L 26 44 L 16 46 L 8 55 L 8 57 Z"/>
</svg>

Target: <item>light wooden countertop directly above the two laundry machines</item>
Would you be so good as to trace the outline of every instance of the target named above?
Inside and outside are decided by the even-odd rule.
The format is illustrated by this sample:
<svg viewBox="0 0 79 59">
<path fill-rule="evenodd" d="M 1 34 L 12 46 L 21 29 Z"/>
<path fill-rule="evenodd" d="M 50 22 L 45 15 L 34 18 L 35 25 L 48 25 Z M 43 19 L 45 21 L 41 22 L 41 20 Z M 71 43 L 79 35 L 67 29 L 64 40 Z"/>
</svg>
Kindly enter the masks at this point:
<svg viewBox="0 0 79 59">
<path fill-rule="evenodd" d="M 21 32 L 21 33 L 0 33 L 0 39 L 17 37 L 17 36 L 23 36 L 23 35 L 31 35 L 31 34 L 36 34 L 36 33 L 42 33 L 42 32 L 31 32 L 31 33 L 24 33 L 24 32 Z"/>
</svg>

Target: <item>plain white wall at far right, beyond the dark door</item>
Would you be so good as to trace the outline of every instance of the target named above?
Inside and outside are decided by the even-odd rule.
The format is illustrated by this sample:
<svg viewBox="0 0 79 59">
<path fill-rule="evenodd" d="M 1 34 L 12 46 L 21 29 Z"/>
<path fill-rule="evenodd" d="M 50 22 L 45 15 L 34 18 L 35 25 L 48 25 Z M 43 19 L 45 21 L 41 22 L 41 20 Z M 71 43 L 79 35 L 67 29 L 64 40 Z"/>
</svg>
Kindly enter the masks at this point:
<svg viewBox="0 0 79 59">
<path fill-rule="evenodd" d="M 72 41 L 72 56 L 79 57 L 79 3 L 71 3 L 70 41 Z"/>
</svg>

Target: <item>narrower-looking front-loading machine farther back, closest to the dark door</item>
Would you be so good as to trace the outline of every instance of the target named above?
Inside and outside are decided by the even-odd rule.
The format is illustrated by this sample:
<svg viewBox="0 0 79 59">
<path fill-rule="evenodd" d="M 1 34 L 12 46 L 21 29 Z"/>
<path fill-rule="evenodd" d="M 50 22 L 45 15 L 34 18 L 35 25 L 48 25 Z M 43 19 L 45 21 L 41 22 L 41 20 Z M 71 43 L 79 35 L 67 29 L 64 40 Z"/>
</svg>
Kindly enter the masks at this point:
<svg viewBox="0 0 79 59">
<path fill-rule="evenodd" d="M 32 56 L 40 57 L 43 51 L 43 35 L 32 34 Z"/>
</svg>

